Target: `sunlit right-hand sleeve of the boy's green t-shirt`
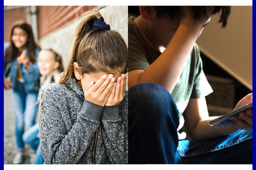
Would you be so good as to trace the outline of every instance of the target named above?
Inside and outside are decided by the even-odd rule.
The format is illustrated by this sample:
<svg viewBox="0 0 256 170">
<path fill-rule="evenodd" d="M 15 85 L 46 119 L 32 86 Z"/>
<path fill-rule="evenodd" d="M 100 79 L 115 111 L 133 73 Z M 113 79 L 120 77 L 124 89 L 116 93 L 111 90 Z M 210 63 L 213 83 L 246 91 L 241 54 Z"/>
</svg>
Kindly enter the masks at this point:
<svg viewBox="0 0 256 170">
<path fill-rule="evenodd" d="M 203 96 L 207 96 L 208 94 L 212 93 L 212 87 L 209 85 L 209 82 L 207 81 L 207 78 L 205 77 L 204 71 L 203 71 L 203 63 L 202 59 L 200 57 L 200 51 L 197 45 L 194 46 L 195 53 L 197 55 L 197 61 L 196 61 L 196 69 L 195 69 L 195 79 L 194 79 L 194 86 L 192 89 L 192 94 L 190 98 L 200 98 Z"/>
</svg>

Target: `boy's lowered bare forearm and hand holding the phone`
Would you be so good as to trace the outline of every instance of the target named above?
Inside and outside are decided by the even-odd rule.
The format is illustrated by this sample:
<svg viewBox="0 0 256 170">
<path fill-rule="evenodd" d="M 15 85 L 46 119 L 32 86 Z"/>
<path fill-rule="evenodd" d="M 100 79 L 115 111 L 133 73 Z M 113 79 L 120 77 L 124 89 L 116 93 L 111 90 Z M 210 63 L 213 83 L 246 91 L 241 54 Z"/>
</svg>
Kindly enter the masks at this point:
<svg viewBox="0 0 256 170">
<path fill-rule="evenodd" d="M 236 108 L 250 103 L 251 94 L 247 95 L 239 101 Z M 248 116 L 248 115 L 247 115 Z M 199 99 L 190 99 L 183 113 L 185 120 L 184 126 L 189 138 L 195 141 L 204 141 L 207 139 L 216 139 L 221 136 L 229 135 L 238 129 L 246 129 L 242 126 L 250 126 L 245 121 L 242 124 L 233 122 L 227 126 L 210 126 L 209 121 L 217 118 L 217 116 L 209 117 L 205 97 Z M 248 117 L 247 117 L 248 118 Z M 250 118 L 249 118 L 250 119 Z M 252 119 L 252 116 L 251 116 Z M 246 125 L 247 124 L 247 125 Z"/>
</svg>

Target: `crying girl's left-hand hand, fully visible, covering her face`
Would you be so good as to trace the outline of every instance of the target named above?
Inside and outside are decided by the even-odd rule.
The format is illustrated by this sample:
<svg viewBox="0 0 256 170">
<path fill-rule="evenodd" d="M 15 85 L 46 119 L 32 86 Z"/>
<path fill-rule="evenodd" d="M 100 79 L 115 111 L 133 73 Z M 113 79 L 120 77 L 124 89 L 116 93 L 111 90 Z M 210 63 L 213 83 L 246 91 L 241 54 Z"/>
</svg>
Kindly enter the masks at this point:
<svg viewBox="0 0 256 170">
<path fill-rule="evenodd" d="M 103 75 L 95 83 L 90 82 L 84 90 L 84 99 L 96 105 L 105 106 L 114 87 L 114 82 L 113 74 Z"/>
</svg>

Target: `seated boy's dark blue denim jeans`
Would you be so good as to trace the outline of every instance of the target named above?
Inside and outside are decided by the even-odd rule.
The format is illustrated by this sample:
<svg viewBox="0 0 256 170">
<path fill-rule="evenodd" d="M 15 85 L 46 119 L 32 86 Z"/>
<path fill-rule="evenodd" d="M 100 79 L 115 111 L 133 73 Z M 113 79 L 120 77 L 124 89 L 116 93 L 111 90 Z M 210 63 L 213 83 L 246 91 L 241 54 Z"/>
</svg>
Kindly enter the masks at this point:
<svg viewBox="0 0 256 170">
<path fill-rule="evenodd" d="M 204 142 L 179 141 L 177 107 L 160 85 L 130 88 L 128 109 L 129 164 L 252 164 L 252 130 Z"/>
</svg>

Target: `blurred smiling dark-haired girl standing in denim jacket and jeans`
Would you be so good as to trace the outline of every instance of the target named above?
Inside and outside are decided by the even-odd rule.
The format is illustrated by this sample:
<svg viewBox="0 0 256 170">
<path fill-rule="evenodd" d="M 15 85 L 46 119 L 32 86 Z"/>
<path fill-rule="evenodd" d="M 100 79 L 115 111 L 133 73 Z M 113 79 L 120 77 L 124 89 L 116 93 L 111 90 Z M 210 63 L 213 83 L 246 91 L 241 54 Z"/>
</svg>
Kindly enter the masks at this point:
<svg viewBox="0 0 256 170">
<path fill-rule="evenodd" d="M 34 41 L 31 26 L 23 21 L 15 23 L 11 30 L 10 44 L 4 53 L 4 68 L 9 67 L 9 74 L 5 72 L 4 88 L 13 90 L 13 108 L 15 113 L 15 135 L 17 150 L 14 164 L 23 161 L 24 142 L 22 135 L 24 127 L 28 129 L 35 124 L 38 105 L 40 73 L 37 66 L 37 57 L 40 49 Z M 9 78 L 6 78 L 6 77 Z M 31 145 L 34 152 L 36 146 Z"/>
</svg>

